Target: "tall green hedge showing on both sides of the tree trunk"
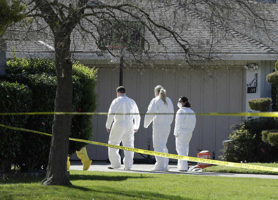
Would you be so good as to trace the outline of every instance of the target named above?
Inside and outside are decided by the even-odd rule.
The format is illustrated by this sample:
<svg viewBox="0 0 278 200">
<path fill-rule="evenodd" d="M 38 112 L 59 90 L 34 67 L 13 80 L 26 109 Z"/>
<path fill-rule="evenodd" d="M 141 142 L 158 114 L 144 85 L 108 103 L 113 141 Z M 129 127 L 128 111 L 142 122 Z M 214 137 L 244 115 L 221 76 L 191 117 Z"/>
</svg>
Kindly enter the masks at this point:
<svg viewBox="0 0 278 200">
<path fill-rule="evenodd" d="M 14 59 L 7 62 L 7 73 L 0 79 L 17 81 L 27 85 L 33 94 L 30 112 L 53 112 L 57 87 L 57 78 L 53 75 L 53 61 L 41 58 Z M 40 65 L 45 73 L 39 71 Z M 24 73 L 19 73 L 24 71 Z M 18 74 L 13 74 L 13 73 Z M 97 95 L 94 92 L 96 82 L 95 69 L 75 63 L 73 66 L 73 95 L 72 103 L 76 112 L 92 112 L 96 109 Z M 46 133 L 52 133 L 52 115 L 30 115 L 25 127 Z M 75 115 L 72 118 L 70 137 L 90 140 L 92 137 L 91 116 Z M 24 171 L 46 168 L 48 162 L 50 137 L 24 133 L 22 148 L 17 156 L 17 164 Z M 70 140 L 69 154 L 75 153 L 86 143 Z"/>
</svg>

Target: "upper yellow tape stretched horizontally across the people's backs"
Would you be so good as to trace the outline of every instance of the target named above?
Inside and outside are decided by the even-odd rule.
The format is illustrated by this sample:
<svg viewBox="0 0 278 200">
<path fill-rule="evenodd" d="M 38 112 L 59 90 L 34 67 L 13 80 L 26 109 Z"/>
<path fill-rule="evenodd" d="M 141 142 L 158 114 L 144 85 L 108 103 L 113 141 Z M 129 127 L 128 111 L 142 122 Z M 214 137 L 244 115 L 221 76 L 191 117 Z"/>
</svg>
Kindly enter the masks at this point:
<svg viewBox="0 0 278 200">
<path fill-rule="evenodd" d="M 107 112 L 9 112 L 0 113 L 0 115 L 44 115 L 44 114 L 70 114 L 70 115 L 107 115 Z M 175 113 L 110 113 L 116 115 L 126 114 L 175 114 Z M 181 113 L 181 114 L 195 114 L 195 115 L 214 115 L 214 116 L 258 116 L 258 117 L 278 117 L 278 112 L 208 112 L 208 113 Z"/>
</svg>

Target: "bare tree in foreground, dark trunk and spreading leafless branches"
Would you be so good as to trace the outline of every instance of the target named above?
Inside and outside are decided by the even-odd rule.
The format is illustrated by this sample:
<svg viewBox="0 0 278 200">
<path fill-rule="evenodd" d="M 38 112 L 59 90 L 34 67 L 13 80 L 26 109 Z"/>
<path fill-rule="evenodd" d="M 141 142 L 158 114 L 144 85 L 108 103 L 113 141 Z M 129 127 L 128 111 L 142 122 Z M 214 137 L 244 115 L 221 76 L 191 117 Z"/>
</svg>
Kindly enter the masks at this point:
<svg viewBox="0 0 278 200">
<path fill-rule="evenodd" d="M 267 27 L 264 5 L 245 0 L 177 1 L 23 1 L 34 21 L 27 33 L 42 32 L 54 46 L 57 73 L 55 112 L 72 112 L 72 53 L 102 55 L 124 47 L 124 62 L 144 61 L 179 53 L 181 66 L 213 58 L 218 45 L 233 40 L 232 28 Z M 244 22 L 244 23 L 242 23 Z M 246 33 L 247 35 L 248 33 Z M 28 34 L 27 34 L 28 35 Z M 247 35 L 248 36 L 248 35 Z M 67 177 L 71 115 L 54 115 L 48 171 L 43 185 L 70 185 Z"/>
</svg>

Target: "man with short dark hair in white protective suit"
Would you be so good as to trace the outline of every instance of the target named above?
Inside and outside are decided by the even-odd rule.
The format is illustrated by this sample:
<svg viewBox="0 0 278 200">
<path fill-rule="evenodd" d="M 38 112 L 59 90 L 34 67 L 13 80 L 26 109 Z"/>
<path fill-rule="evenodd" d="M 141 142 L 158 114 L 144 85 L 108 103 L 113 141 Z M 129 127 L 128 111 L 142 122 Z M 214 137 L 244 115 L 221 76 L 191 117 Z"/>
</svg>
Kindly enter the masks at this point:
<svg viewBox="0 0 278 200">
<path fill-rule="evenodd" d="M 114 99 L 108 111 L 106 121 L 106 130 L 110 133 L 108 144 L 120 145 L 123 142 L 124 147 L 134 148 L 134 133 L 139 129 L 140 115 L 138 107 L 132 99 L 126 96 L 126 89 L 123 86 L 117 88 L 117 98 Z M 129 114 L 116 114 L 129 113 Z M 138 113 L 138 114 L 134 114 Z M 110 127 L 113 122 L 110 132 Z M 134 124 L 133 124 L 134 119 Z M 125 170 L 130 170 L 133 164 L 133 151 L 124 150 L 125 157 L 123 158 L 123 165 Z M 109 169 L 117 169 L 121 167 L 121 157 L 119 149 L 108 147 L 108 158 L 111 162 Z"/>
</svg>

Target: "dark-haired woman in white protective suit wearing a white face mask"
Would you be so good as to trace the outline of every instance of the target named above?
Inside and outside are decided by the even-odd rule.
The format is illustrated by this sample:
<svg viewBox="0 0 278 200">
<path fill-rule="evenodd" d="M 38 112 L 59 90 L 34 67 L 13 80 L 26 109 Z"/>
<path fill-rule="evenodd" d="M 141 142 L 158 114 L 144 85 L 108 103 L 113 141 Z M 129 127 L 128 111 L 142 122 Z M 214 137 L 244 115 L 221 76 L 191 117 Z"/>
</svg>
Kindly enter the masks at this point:
<svg viewBox="0 0 278 200">
<path fill-rule="evenodd" d="M 189 142 L 196 124 L 196 116 L 191 110 L 191 104 L 186 97 L 180 97 L 179 110 L 176 114 L 174 135 L 176 137 L 176 150 L 178 155 L 188 156 Z M 188 114 L 187 114 L 188 113 Z M 178 160 L 178 170 L 187 171 L 187 160 Z"/>
</svg>

